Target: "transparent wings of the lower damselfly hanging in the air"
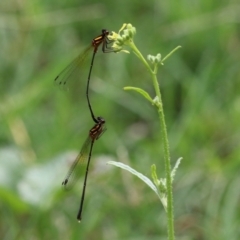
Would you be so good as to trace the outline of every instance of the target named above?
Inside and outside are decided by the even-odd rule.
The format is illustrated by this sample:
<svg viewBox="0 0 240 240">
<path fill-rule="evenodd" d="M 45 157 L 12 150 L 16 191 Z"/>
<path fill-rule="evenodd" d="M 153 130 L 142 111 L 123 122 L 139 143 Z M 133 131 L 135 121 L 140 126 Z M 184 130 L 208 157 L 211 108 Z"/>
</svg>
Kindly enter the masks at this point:
<svg viewBox="0 0 240 240">
<path fill-rule="evenodd" d="M 65 179 L 62 182 L 62 185 L 66 190 L 71 189 L 75 185 L 76 181 L 83 174 L 85 170 L 83 164 L 86 162 L 86 160 L 88 160 L 90 145 L 92 141 L 93 140 L 91 139 L 91 137 L 88 136 L 82 146 L 80 153 L 78 154 L 75 161 L 72 163 Z"/>
</svg>

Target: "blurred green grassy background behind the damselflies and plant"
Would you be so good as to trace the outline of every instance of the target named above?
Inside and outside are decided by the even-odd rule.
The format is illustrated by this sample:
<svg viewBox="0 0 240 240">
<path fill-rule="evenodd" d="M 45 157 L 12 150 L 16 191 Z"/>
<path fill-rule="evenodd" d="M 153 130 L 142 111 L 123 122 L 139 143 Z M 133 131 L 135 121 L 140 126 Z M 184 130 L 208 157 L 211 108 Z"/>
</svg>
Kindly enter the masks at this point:
<svg viewBox="0 0 240 240">
<path fill-rule="evenodd" d="M 230 1 L 1 1 L 0 238 L 166 239 L 156 195 L 121 161 L 164 177 L 156 109 L 124 86 L 154 97 L 134 54 L 97 54 L 90 98 L 107 131 L 96 142 L 83 221 L 82 179 L 61 182 L 93 126 L 85 97 L 86 62 L 69 92 L 56 75 L 101 33 L 137 29 L 144 56 L 181 45 L 158 78 L 168 126 L 177 239 L 240 239 L 240 4 Z"/>
</svg>

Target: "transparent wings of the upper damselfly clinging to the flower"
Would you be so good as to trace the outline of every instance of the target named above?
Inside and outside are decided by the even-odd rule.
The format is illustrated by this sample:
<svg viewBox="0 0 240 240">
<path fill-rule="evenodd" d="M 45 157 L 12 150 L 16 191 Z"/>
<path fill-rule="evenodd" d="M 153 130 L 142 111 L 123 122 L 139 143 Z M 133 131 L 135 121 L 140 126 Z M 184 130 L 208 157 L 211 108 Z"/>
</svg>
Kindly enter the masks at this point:
<svg viewBox="0 0 240 240">
<path fill-rule="evenodd" d="M 85 62 L 88 53 L 91 52 L 90 45 L 85 49 L 78 57 L 76 57 L 66 68 L 64 68 L 54 79 L 54 83 L 60 88 L 69 89 L 69 82 L 71 79 L 79 78 L 79 72 L 81 71 L 81 65 Z"/>
</svg>

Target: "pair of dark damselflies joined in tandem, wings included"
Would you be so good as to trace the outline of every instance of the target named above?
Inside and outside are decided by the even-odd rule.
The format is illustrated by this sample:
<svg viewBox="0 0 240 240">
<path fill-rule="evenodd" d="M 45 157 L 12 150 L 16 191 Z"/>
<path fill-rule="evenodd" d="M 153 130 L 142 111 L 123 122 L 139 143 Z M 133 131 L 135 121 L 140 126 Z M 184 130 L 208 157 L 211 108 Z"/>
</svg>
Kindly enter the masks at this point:
<svg viewBox="0 0 240 240">
<path fill-rule="evenodd" d="M 60 86 L 68 85 L 69 81 L 71 81 L 71 79 L 75 77 L 76 72 L 79 72 L 79 69 L 82 67 L 83 62 L 85 62 L 86 57 L 89 55 L 89 53 L 91 53 L 91 51 L 93 52 L 92 59 L 90 62 L 88 78 L 87 78 L 86 97 L 87 97 L 87 103 L 90 110 L 90 114 L 93 121 L 95 122 L 95 125 L 90 129 L 88 137 L 85 140 L 80 150 L 80 153 L 78 154 L 75 161 L 72 163 L 65 179 L 62 182 L 62 185 L 66 189 L 71 188 L 73 184 L 76 182 L 76 179 L 80 177 L 79 173 L 80 173 L 80 169 L 83 167 L 82 163 L 87 161 L 83 189 L 82 189 L 82 197 L 80 201 L 80 208 L 77 214 L 77 219 L 79 222 L 82 219 L 83 202 L 85 197 L 88 169 L 89 169 L 89 163 L 91 160 L 93 145 L 95 140 L 99 139 L 102 133 L 106 130 L 104 118 L 95 117 L 93 113 L 92 106 L 89 99 L 89 84 L 90 84 L 94 59 L 99 47 L 100 46 L 102 47 L 102 51 L 104 53 L 114 52 L 114 50 L 111 48 L 112 40 L 109 39 L 109 35 L 110 35 L 110 32 L 107 31 L 106 29 L 103 29 L 102 33 L 92 40 L 90 46 L 87 47 L 85 51 L 83 51 L 76 59 L 74 59 L 65 69 L 63 69 L 63 71 L 60 72 L 60 74 L 54 80 L 57 85 L 60 85 Z"/>
</svg>

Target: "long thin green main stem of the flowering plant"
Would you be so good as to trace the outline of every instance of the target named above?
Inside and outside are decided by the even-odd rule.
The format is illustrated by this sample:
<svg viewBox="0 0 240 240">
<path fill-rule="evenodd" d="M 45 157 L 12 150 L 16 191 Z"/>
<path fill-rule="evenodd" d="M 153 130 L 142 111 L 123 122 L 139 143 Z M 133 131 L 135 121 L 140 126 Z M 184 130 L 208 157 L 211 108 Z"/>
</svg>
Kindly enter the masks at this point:
<svg viewBox="0 0 240 240">
<path fill-rule="evenodd" d="M 173 213 L 173 194 L 172 194 L 172 180 L 171 180 L 171 162 L 170 162 L 170 151 L 169 151 L 169 143 L 167 136 L 167 126 L 165 123 L 162 97 L 160 92 L 160 86 L 157 81 L 157 67 L 155 66 L 154 71 L 151 69 L 145 58 L 136 48 L 135 44 L 131 42 L 129 46 L 132 48 L 133 52 L 137 55 L 137 57 L 143 62 L 143 64 L 147 67 L 147 69 L 151 73 L 152 81 L 156 96 L 158 97 L 159 104 L 158 115 L 160 120 L 160 125 L 162 129 L 162 138 L 163 138 L 163 146 L 164 146 L 164 161 L 165 161 L 165 174 L 166 174 L 166 182 L 167 182 L 167 219 L 168 219 L 168 239 L 174 240 L 174 213 Z"/>
</svg>

